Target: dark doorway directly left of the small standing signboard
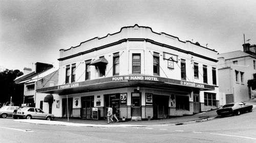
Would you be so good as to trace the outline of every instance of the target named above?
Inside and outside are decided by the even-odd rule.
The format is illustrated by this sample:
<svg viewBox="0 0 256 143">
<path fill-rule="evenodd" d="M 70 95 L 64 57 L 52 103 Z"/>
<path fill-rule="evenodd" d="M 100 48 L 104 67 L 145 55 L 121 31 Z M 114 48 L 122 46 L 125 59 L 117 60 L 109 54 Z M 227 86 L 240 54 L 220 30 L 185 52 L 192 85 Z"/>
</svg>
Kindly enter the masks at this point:
<svg viewBox="0 0 256 143">
<path fill-rule="evenodd" d="M 92 119 L 92 107 L 94 106 L 94 96 L 81 97 L 82 118 Z"/>
</svg>

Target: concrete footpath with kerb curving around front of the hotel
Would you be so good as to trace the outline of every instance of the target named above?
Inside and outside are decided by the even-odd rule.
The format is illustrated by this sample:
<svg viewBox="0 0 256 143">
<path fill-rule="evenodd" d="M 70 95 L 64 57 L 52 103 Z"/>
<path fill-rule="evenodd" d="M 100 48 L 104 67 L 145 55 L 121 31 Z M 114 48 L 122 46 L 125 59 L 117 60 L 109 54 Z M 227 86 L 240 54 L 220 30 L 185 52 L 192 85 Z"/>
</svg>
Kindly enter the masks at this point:
<svg viewBox="0 0 256 143">
<path fill-rule="evenodd" d="M 245 101 L 246 104 L 252 104 L 253 109 L 256 108 L 256 99 L 250 101 Z M 216 113 L 216 110 L 211 110 L 207 112 L 201 112 L 195 115 L 182 116 L 182 117 L 173 117 L 168 119 L 160 120 L 150 120 L 150 121 L 126 121 L 126 122 L 114 122 L 106 124 L 106 120 L 83 120 L 83 119 L 74 119 L 70 118 L 69 121 L 67 118 L 56 118 L 54 121 L 47 120 L 27 120 L 27 119 L 18 119 L 14 122 L 23 122 L 31 124 L 41 124 L 41 125 L 61 125 L 61 126 L 79 126 L 79 127 L 147 127 L 147 126 L 175 126 L 175 125 L 184 125 L 197 122 L 205 122 L 219 118 Z"/>
</svg>

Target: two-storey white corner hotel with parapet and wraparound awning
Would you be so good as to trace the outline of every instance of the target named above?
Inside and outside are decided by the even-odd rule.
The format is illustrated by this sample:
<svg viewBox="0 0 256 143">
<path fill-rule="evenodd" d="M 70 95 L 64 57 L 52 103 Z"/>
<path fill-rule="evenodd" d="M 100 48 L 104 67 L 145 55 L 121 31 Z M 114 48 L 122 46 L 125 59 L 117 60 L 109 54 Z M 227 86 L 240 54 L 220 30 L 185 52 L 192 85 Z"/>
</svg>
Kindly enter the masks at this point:
<svg viewBox="0 0 256 143">
<path fill-rule="evenodd" d="M 56 117 L 105 119 L 111 104 L 126 120 L 193 115 L 219 106 L 217 51 L 146 26 L 60 49 Z M 55 105 L 56 104 L 56 105 Z"/>
</svg>

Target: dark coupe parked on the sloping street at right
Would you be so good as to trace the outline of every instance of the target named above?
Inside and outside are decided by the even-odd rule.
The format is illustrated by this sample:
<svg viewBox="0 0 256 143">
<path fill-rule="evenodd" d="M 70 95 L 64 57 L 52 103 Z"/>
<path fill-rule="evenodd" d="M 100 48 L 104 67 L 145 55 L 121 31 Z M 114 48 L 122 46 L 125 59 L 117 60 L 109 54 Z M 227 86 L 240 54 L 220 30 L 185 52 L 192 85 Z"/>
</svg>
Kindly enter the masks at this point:
<svg viewBox="0 0 256 143">
<path fill-rule="evenodd" d="M 243 112 L 252 111 L 251 104 L 245 104 L 244 102 L 228 103 L 223 105 L 217 110 L 217 114 L 221 116 L 226 115 L 240 115 Z"/>
</svg>

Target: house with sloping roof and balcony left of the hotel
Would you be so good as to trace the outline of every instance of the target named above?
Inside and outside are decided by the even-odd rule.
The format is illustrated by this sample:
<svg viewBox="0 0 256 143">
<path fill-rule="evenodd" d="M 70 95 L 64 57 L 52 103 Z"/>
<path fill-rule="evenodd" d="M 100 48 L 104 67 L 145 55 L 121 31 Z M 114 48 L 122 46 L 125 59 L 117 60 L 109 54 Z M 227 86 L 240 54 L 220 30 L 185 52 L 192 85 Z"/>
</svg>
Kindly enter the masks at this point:
<svg viewBox="0 0 256 143">
<path fill-rule="evenodd" d="M 24 86 L 23 93 L 20 93 L 20 96 L 24 97 L 23 104 L 35 106 L 37 77 L 51 68 L 53 68 L 51 64 L 37 62 L 35 63 L 35 71 L 32 71 L 30 68 L 24 68 L 24 74 L 14 80 L 15 84 Z"/>
</svg>

